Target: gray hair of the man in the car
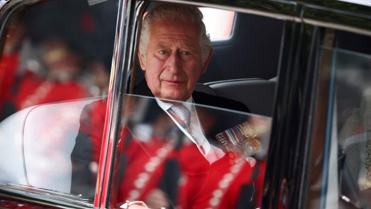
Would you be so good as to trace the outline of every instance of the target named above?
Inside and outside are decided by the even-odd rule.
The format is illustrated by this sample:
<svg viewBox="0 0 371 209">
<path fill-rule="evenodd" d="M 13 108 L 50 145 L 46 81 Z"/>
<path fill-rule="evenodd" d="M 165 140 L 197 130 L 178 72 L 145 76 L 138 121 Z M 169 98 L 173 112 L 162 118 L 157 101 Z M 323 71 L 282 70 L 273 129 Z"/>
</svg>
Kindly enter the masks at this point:
<svg viewBox="0 0 371 209">
<path fill-rule="evenodd" d="M 202 49 L 201 60 L 204 63 L 210 52 L 211 41 L 210 36 L 206 32 L 204 22 L 202 22 L 203 15 L 196 6 L 157 3 L 145 15 L 142 22 L 141 41 L 139 42 L 139 50 L 145 55 L 147 53 L 147 46 L 150 42 L 150 28 L 153 22 L 167 20 L 172 25 L 197 25 L 200 36 L 200 46 Z"/>
</svg>

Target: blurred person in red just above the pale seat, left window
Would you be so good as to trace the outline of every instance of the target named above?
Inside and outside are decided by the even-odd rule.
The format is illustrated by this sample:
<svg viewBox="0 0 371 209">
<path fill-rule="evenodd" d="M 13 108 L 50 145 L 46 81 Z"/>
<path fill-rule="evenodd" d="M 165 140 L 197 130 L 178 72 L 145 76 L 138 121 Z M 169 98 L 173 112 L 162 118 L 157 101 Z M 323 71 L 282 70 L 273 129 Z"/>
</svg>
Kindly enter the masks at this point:
<svg viewBox="0 0 371 209">
<path fill-rule="evenodd" d="M 41 47 L 41 61 L 45 76 L 29 71 L 20 81 L 15 107 L 25 109 L 37 104 L 76 100 L 88 96 L 79 83 L 82 59 L 63 41 L 53 37 Z"/>
</svg>

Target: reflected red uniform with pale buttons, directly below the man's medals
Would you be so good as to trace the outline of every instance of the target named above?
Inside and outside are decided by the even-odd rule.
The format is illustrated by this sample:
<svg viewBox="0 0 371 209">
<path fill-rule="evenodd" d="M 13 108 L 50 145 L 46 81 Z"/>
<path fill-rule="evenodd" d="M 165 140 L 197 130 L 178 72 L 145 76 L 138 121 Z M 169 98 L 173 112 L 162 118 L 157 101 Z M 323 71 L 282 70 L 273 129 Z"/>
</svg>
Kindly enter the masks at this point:
<svg viewBox="0 0 371 209">
<path fill-rule="evenodd" d="M 199 152 L 194 146 L 183 151 L 192 156 Z M 193 177 L 188 176 L 188 172 L 183 173 L 183 190 L 177 208 L 257 208 L 260 205 L 264 161 L 258 160 L 254 167 L 246 160 L 230 164 L 226 155 L 211 165 L 201 158 L 193 162 L 197 163 L 193 163 L 192 168 L 190 165 L 181 168 L 196 169 L 198 165 L 204 176 Z"/>
</svg>

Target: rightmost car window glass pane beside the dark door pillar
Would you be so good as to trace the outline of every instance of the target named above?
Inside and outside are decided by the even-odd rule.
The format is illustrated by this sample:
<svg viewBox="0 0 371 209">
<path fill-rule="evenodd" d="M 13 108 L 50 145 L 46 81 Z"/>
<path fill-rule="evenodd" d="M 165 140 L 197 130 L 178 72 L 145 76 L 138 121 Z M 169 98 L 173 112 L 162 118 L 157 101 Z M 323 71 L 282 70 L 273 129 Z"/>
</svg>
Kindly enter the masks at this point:
<svg viewBox="0 0 371 209">
<path fill-rule="evenodd" d="M 370 41 L 369 36 L 339 31 L 336 47 L 327 48 L 332 52 L 334 79 L 334 90 L 330 93 L 334 104 L 329 106 L 329 112 L 333 112 L 333 140 L 327 138 L 332 147 L 327 192 L 334 197 L 332 203 L 339 207 L 367 208 L 371 203 L 368 192 L 371 187 L 371 51 L 364 47 Z"/>
</svg>

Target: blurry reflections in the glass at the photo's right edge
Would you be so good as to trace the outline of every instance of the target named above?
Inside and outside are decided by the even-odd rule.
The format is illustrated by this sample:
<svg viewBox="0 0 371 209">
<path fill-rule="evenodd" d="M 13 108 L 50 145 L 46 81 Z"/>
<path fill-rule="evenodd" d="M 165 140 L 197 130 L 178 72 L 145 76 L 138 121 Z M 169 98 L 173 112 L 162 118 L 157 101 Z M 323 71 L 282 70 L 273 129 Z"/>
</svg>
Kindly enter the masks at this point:
<svg viewBox="0 0 371 209">
<path fill-rule="evenodd" d="M 337 129 L 335 146 L 339 145 L 339 195 L 353 205 L 367 208 L 371 203 L 371 55 L 343 48 L 331 50 L 336 76 L 332 126 Z M 344 201 L 339 202 L 341 205 Z"/>
</svg>

